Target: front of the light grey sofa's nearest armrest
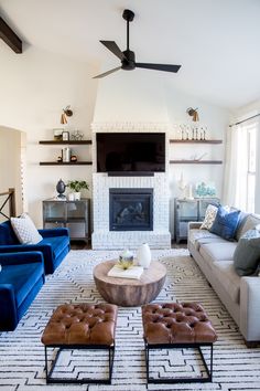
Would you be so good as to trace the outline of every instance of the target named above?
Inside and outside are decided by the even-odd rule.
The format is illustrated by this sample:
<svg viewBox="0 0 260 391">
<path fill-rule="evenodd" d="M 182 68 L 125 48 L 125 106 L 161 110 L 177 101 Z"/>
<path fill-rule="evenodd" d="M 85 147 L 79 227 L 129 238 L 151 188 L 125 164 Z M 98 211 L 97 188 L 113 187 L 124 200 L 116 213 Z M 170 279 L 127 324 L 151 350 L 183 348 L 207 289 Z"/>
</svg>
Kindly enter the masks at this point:
<svg viewBox="0 0 260 391">
<path fill-rule="evenodd" d="M 260 341 L 260 277 L 241 277 L 240 330 L 247 341 Z"/>
</svg>

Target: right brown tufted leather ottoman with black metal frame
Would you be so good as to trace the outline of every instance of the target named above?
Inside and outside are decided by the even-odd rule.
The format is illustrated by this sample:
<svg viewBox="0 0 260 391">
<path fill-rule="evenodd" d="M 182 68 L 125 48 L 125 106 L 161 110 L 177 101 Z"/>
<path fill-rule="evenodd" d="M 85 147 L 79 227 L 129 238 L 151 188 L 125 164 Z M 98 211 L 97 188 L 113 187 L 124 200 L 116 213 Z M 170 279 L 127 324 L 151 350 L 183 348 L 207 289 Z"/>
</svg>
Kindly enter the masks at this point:
<svg viewBox="0 0 260 391">
<path fill-rule="evenodd" d="M 204 308 L 198 303 L 160 303 L 142 306 L 143 338 L 145 347 L 147 379 L 149 383 L 207 382 L 213 377 L 213 344 L 217 334 Z M 210 349 L 208 369 L 202 347 Z M 151 378 L 149 351 L 151 349 L 198 349 L 207 377 Z"/>
</svg>

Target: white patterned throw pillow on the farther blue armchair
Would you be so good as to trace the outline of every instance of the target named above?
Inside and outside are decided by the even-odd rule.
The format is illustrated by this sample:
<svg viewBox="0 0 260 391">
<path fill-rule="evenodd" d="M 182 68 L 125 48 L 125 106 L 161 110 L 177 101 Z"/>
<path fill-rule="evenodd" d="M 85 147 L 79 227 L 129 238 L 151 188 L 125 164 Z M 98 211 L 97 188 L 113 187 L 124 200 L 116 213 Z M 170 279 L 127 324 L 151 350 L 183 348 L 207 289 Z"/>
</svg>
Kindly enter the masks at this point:
<svg viewBox="0 0 260 391">
<path fill-rule="evenodd" d="M 33 221 L 25 213 L 20 218 L 11 218 L 11 224 L 19 242 L 22 244 L 37 244 L 43 240 Z"/>
</svg>

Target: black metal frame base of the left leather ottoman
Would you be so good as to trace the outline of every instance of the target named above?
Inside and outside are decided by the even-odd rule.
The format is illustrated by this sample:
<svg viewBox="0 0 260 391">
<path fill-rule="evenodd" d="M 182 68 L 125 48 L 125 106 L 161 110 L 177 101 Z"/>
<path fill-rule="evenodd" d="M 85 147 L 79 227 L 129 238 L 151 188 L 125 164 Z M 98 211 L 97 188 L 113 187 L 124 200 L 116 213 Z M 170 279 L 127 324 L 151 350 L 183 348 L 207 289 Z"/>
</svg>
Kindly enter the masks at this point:
<svg viewBox="0 0 260 391">
<path fill-rule="evenodd" d="M 115 357 L 115 342 L 113 345 L 45 345 L 45 371 L 46 371 L 46 383 L 96 383 L 96 384 L 111 384 L 112 379 L 112 368 L 113 368 L 113 357 Z M 48 370 L 47 366 L 47 348 L 58 348 L 55 359 L 53 360 L 51 368 Z M 72 379 L 72 378 L 54 378 L 52 377 L 55 369 L 58 357 L 63 350 L 108 350 L 109 356 L 109 377 L 108 379 Z"/>
</svg>

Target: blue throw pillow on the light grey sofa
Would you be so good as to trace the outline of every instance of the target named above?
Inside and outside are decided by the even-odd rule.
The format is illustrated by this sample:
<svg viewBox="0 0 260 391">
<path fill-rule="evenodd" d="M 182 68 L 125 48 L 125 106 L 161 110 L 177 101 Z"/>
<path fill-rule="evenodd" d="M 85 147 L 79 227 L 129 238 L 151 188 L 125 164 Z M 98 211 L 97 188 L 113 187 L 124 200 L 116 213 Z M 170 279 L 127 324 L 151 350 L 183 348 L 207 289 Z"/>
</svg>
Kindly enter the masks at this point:
<svg viewBox="0 0 260 391">
<path fill-rule="evenodd" d="M 209 232 L 215 233 L 216 235 L 219 235 L 227 241 L 231 241 L 235 236 L 239 218 L 239 210 L 228 212 L 225 208 L 219 207 L 216 219 Z"/>
</svg>

